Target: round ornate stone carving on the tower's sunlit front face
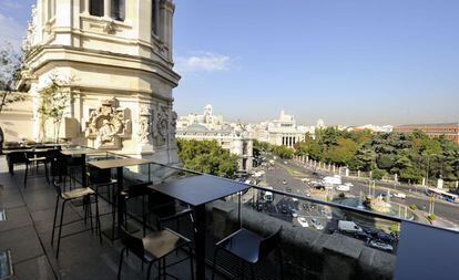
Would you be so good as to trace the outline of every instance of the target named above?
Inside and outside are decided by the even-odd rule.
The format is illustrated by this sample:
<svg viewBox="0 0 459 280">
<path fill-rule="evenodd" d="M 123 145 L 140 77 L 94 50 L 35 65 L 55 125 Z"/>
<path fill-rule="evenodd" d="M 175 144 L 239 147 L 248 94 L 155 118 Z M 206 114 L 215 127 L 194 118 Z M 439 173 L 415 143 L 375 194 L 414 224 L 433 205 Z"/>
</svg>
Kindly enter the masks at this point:
<svg viewBox="0 0 459 280">
<path fill-rule="evenodd" d="M 96 148 L 122 148 L 122 139 L 131 136 L 128 108 L 119 107 L 115 98 L 103 101 L 100 107 L 90 110 L 85 136 Z"/>
</svg>

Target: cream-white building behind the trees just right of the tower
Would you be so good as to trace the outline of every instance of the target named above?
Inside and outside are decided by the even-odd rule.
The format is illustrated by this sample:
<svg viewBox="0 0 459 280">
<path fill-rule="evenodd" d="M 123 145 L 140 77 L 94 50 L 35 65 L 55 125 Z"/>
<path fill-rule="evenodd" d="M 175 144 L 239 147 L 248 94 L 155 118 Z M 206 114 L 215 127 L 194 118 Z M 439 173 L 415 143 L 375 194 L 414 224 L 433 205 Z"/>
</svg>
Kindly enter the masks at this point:
<svg viewBox="0 0 459 280">
<path fill-rule="evenodd" d="M 239 169 L 249 172 L 253 167 L 253 136 L 242 125 L 223 122 L 214 116 L 212 105 L 204 107 L 204 114 L 188 114 L 177 121 L 176 137 L 183 139 L 216 141 L 218 145 L 239 157 Z"/>
</svg>

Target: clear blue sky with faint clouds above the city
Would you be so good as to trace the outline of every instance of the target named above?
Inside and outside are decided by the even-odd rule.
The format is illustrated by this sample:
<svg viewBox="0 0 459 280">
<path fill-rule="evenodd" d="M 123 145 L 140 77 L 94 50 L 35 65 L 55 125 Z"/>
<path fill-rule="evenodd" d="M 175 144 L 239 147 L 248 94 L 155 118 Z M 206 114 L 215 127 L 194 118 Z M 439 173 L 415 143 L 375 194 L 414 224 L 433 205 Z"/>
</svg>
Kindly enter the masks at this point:
<svg viewBox="0 0 459 280">
<path fill-rule="evenodd" d="M 33 0 L 0 0 L 18 40 Z M 457 0 L 175 0 L 178 115 L 242 122 L 459 122 Z"/>
</svg>

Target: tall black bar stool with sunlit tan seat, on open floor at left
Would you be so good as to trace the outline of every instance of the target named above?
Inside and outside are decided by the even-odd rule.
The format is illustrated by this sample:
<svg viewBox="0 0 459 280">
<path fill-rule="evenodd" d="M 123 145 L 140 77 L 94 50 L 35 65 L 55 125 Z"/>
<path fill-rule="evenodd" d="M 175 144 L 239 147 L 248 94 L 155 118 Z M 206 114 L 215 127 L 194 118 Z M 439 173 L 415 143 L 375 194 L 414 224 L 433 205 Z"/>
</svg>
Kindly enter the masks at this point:
<svg viewBox="0 0 459 280">
<path fill-rule="evenodd" d="M 101 221 L 100 221 L 100 216 L 99 216 L 98 194 L 93 189 L 88 188 L 88 187 L 65 190 L 61 187 L 61 184 L 65 185 L 64 184 L 65 178 L 67 177 L 63 177 L 63 182 L 61 182 L 61 183 L 55 183 L 55 182 L 53 183 L 53 185 L 55 186 L 57 193 L 58 193 L 58 197 L 55 199 L 55 209 L 54 209 L 54 220 L 53 220 L 53 224 L 52 224 L 51 245 L 53 245 L 53 241 L 54 241 L 55 228 L 59 227 L 58 249 L 57 249 L 57 252 L 55 252 L 55 258 L 59 258 L 59 249 L 60 249 L 60 245 L 61 245 L 61 238 L 73 236 L 73 235 L 81 234 L 81 232 L 89 231 L 89 230 L 91 230 L 91 232 L 93 232 L 93 224 L 92 224 L 93 215 L 92 215 L 92 209 L 91 209 L 92 208 L 91 207 L 91 197 L 94 197 L 94 203 L 95 203 L 95 230 L 96 230 L 96 232 L 99 232 L 99 239 L 100 239 L 100 242 L 102 243 L 102 230 L 101 230 Z M 65 204 L 68 201 L 74 200 L 74 199 L 83 199 L 84 218 L 63 224 Z M 58 218 L 58 209 L 59 209 L 59 201 L 60 200 L 62 200 L 61 218 L 60 218 L 59 226 L 57 226 L 55 221 L 57 221 L 57 218 Z M 82 220 L 84 220 L 84 224 L 85 224 L 88 218 L 90 219 L 90 222 L 91 222 L 91 228 L 90 229 L 84 229 L 84 230 L 81 230 L 81 231 L 78 231 L 78 232 L 72 232 L 72 234 L 69 234 L 67 236 L 62 236 L 62 226 L 68 226 L 70 224 L 74 224 L 76 221 L 82 221 Z"/>
</svg>

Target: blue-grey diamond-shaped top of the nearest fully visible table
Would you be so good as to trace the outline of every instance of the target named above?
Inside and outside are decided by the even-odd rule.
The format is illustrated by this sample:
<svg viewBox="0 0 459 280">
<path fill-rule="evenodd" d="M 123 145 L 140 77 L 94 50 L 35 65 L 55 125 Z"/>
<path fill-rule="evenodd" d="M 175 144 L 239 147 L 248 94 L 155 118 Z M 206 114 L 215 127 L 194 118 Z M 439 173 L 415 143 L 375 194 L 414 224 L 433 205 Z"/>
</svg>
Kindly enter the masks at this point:
<svg viewBox="0 0 459 280">
<path fill-rule="evenodd" d="M 200 206 L 243 191 L 249 186 L 215 176 L 198 175 L 152 185 L 150 188 L 191 206 Z"/>
</svg>

